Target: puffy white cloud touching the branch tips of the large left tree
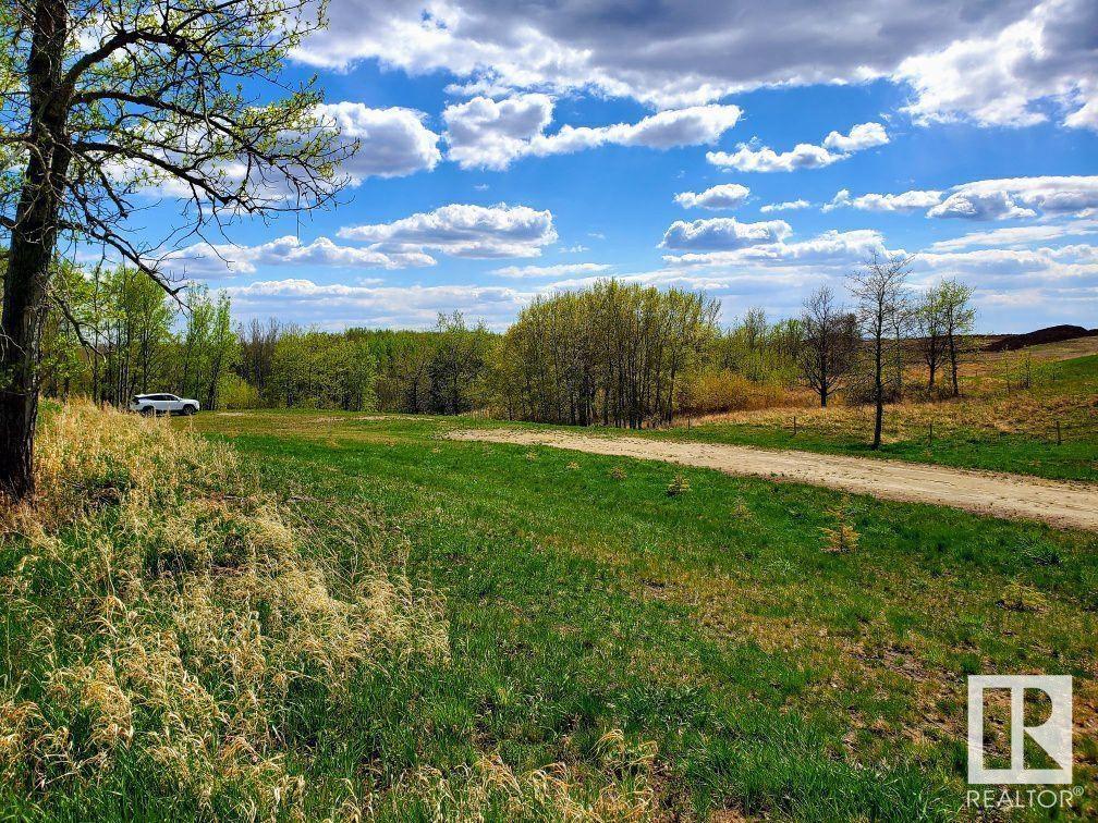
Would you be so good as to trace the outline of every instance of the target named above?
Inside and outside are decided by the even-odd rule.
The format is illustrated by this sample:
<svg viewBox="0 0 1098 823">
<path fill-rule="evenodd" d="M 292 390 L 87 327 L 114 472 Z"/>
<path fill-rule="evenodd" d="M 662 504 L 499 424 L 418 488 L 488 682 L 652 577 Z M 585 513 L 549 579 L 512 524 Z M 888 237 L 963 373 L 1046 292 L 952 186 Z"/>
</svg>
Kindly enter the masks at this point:
<svg viewBox="0 0 1098 823">
<path fill-rule="evenodd" d="M 369 177 L 403 177 L 429 171 L 441 159 L 438 135 L 423 124 L 426 116 L 412 109 L 370 109 L 362 103 L 318 106 L 339 127 L 345 142 L 358 140 L 343 170 L 356 183 Z"/>
</svg>

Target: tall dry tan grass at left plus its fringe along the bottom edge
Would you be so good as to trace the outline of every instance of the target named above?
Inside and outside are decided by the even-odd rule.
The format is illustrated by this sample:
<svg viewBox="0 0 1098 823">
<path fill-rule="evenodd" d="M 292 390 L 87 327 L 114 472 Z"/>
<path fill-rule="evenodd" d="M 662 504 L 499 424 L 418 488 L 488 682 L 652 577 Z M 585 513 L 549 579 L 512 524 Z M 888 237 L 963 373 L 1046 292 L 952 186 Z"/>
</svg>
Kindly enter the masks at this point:
<svg viewBox="0 0 1098 823">
<path fill-rule="evenodd" d="M 247 821 L 302 820 L 317 803 L 333 820 L 653 813 L 654 747 L 616 731 L 593 769 L 518 774 L 485 752 L 388 787 L 326 775 L 345 790 L 310 804 L 307 752 L 281 733 L 294 695 L 318 690 L 337 712 L 361 667 L 448 665 L 440 600 L 363 556 L 360 511 L 309 521 L 232 449 L 165 420 L 69 405 L 47 416 L 37 458 L 36 505 L 0 509 L 7 802 L 49 816 L 57 797 L 105 787 Z"/>
</svg>

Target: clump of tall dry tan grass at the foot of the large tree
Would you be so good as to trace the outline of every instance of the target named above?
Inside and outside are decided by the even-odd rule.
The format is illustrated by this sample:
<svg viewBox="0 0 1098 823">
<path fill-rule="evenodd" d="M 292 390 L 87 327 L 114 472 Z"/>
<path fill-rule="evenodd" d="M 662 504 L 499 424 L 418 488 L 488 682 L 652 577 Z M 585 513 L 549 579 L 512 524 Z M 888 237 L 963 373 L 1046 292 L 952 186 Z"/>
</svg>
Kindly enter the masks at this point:
<svg viewBox="0 0 1098 823">
<path fill-rule="evenodd" d="M 448 654 L 440 604 L 399 575 L 340 572 L 249 487 L 233 452 L 91 405 L 38 443 L 37 505 L 3 512 L 10 670 L 0 773 L 32 797 L 120 759 L 212 811 L 294 816 L 276 730 L 290 689 L 338 700 L 384 655 Z"/>
</svg>

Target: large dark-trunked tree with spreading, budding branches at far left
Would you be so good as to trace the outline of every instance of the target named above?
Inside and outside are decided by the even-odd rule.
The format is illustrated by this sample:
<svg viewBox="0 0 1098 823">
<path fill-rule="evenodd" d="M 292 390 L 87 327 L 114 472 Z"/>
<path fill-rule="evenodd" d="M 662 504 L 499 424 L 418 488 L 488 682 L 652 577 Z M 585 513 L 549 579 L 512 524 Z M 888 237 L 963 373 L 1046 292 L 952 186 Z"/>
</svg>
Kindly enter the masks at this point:
<svg viewBox="0 0 1098 823">
<path fill-rule="evenodd" d="M 284 58 L 321 25 L 312 0 L 8 0 L 0 8 L 0 488 L 33 492 L 40 338 L 58 240 L 99 246 L 175 294 L 163 263 L 239 215 L 329 203 L 341 143 Z M 247 95 L 242 89 L 255 91 Z M 266 88 L 264 88 L 266 86 Z M 266 102 L 271 92 L 278 97 Z M 15 169 L 15 171 L 10 171 Z M 134 230 L 141 194 L 182 203 Z"/>
</svg>

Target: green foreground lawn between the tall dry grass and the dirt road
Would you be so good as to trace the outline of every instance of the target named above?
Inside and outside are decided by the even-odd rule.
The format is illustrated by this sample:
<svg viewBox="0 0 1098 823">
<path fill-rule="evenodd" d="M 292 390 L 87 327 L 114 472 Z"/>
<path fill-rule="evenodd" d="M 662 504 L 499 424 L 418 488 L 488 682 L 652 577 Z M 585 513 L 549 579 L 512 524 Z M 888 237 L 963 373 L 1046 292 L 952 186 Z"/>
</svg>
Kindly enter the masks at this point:
<svg viewBox="0 0 1098 823">
<path fill-rule="evenodd" d="M 288 731 L 317 813 L 345 778 L 392 791 L 485 753 L 517 773 L 569 764 L 594 793 L 597 742 L 620 729 L 656 743 L 669 813 L 964 818 L 964 678 L 991 672 L 1075 676 L 1075 779 L 1094 786 L 1098 741 L 1079 731 L 1098 708 L 1094 534 L 453 442 L 437 436 L 460 424 L 434 418 L 193 425 L 321 529 L 357 510 L 384 523 L 406 540 L 408 574 L 446 598 L 448 662 L 373 668 L 349 704 L 307 707 Z M 688 489 L 669 496 L 676 474 Z M 859 539 L 837 554 L 824 530 L 840 518 Z M 1018 587 L 1034 610 L 1011 608 Z M 1098 796 L 1085 802 L 1094 812 Z"/>
</svg>

